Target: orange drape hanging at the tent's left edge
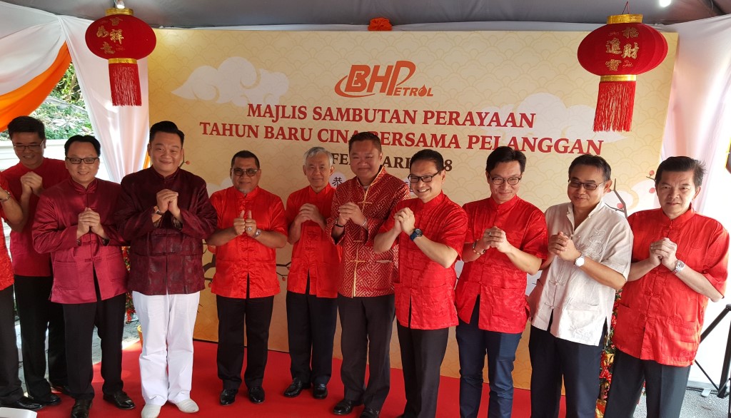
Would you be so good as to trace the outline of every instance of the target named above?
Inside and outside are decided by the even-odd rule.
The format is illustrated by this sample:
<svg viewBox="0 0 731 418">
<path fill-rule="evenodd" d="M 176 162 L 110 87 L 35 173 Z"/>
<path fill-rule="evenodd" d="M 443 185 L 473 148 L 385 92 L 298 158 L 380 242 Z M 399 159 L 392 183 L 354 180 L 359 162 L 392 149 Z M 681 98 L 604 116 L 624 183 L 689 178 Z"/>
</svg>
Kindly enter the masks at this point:
<svg viewBox="0 0 731 418">
<path fill-rule="evenodd" d="M 61 45 L 53 64 L 33 80 L 6 94 L 0 95 L 0 131 L 14 118 L 30 115 L 48 97 L 71 64 L 69 48 Z"/>
</svg>

